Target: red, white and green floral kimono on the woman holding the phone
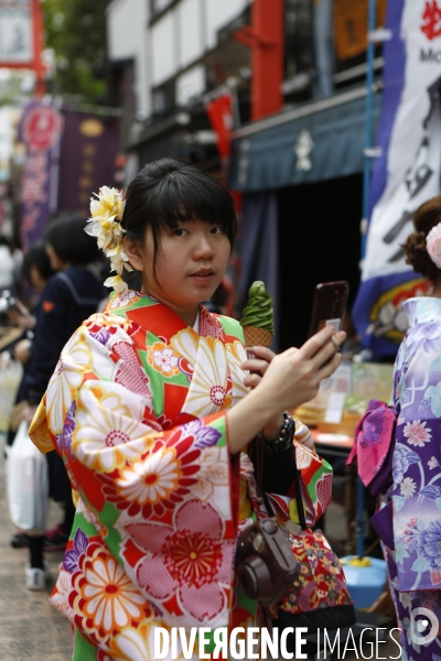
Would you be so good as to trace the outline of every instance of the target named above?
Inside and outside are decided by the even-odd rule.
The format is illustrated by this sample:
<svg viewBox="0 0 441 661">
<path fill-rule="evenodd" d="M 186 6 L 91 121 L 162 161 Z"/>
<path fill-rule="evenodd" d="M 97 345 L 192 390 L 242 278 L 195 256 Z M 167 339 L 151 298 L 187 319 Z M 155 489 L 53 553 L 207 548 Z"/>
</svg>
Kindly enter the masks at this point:
<svg viewBox="0 0 441 661">
<path fill-rule="evenodd" d="M 247 393 L 245 360 L 236 321 L 201 306 L 196 332 L 135 291 L 64 347 L 30 433 L 78 496 L 51 597 L 74 661 L 152 660 L 155 627 L 256 625 L 234 576 L 250 462 L 232 459 L 225 415 Z"/>
</svg>

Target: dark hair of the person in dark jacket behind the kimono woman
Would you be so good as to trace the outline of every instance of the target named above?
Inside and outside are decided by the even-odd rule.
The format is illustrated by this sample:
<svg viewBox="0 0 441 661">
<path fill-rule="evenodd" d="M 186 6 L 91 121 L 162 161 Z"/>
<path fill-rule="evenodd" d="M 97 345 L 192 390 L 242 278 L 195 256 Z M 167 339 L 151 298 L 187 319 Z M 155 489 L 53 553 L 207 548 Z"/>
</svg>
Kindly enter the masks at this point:
<svg viewBox="0 0 441 661">
<path fill-rule="evenodd" d="M 86 218 L 77 214 L 65 214 L 52 220 L 44 235 L 57 257 L 71 264 L 88 264 L 100 259 L 95 237 L 84 231 Z"/>
</svg>

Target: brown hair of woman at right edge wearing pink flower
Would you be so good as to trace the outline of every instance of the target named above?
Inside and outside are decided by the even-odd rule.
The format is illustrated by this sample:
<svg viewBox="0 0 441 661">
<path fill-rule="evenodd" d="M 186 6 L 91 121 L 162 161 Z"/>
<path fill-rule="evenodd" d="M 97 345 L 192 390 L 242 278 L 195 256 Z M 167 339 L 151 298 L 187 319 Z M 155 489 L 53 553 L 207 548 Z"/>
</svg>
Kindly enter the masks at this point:
<svg viewBox="0 0 441 661">
<path fill-rule="evenodd" d="M 428 199 L 416 210 L 415 231 L 408 236 L 402 246 L 406 252 L 406 263 L 410 264 L 416 273 L 421 273 L 432 282 L 440 277 L 440 270 L 429 257 L 426 240 L 430 230 L 439 223 L 441 223 L 441 195 Z"/>
</svg>

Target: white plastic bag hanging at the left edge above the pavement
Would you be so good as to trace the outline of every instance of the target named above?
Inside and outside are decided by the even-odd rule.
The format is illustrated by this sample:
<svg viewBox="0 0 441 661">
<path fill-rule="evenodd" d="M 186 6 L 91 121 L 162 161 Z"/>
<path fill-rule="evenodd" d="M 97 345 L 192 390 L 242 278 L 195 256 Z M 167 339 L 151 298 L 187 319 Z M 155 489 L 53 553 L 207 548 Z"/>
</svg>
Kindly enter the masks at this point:
<svg viewBox="0 0 441 661">
<path fill-rule="evenodd" d="M 21 422 L 8 453 L 9 516 L 21 530 L 43 534 L 49 510 L 47 460 L 28 432 L 28 423 Z"/>
</svg>

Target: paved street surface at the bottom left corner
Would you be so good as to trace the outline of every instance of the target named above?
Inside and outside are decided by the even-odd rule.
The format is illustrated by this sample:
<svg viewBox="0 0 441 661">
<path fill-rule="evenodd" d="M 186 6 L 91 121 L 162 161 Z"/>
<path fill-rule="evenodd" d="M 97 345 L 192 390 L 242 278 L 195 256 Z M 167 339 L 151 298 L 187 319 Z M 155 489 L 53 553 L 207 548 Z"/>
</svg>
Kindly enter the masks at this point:
<svg viewBox="0 0 441 661">
<path fill-rule="evenodd" d="M 24 585 L 28 549 L 12 549 L 14 527 L 9 520 L 4 492 L 3 444 L 0 452 L 0 661 L 69 661 L 69 624 L 58 615 L 47 592 L 30 592 Z M 51 521 L 61 520 L 51 503 Z M 54 575 L 63 554 L 46 555 Z"/>
</svg>

